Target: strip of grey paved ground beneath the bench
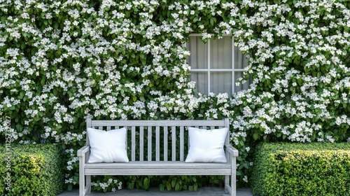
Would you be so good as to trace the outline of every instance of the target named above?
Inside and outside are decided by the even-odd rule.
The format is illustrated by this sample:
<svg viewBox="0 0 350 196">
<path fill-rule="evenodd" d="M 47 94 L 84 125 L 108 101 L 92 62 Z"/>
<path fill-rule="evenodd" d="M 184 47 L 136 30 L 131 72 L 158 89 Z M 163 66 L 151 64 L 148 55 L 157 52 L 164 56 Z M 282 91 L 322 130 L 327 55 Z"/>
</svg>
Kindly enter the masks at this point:
<svg viewBox="0 0 350 196">
<path fill-rule="evenodd" d="M 58 196 L 78 196 L 78 190 L 64 191 Z M 197 191 L 160 191 L 159 188 L 151 188 L 151 190 L 117 190 L 116 192 L 111 193 L 91 193 L 90 196 L 115 196 L 115 195 L 127 195 L 127 196 L 229 196 L 230 194 L 225 193 L 223 188 L 217 187 L 205 187 L 198 188 Z M 237 189 L 237 196 L 253 196 L 249 188 L 239 188 Z"/>
</svg>

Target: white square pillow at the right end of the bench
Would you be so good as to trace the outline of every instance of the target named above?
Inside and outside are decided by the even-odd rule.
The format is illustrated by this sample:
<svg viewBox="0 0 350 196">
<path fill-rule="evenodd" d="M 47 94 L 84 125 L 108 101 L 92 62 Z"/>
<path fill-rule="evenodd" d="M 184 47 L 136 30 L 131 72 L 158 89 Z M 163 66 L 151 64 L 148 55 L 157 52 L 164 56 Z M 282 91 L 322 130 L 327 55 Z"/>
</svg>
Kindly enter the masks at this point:
<svg viewBox="0 0 350 196">
<path fill-rule="evenodd" d="M 223 145 L 228 134 L 228 128 L 216 130 L 201 130 L 188 128 L 190 150 L 186 162 L 227 162 Z"/>
</svg>

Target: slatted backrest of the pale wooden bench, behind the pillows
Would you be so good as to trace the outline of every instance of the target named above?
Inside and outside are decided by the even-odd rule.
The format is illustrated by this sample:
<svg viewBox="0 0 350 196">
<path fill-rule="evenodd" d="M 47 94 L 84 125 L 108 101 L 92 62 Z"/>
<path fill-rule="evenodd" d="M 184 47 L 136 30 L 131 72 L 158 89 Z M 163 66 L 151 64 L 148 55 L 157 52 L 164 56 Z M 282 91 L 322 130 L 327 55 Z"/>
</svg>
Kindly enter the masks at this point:
<svg viewBox="0 0 350 196">
<path fill-rule="evenodd" d="M 188 127 L 214 129 L 228 127 L 224 120 L 92 120 L 87 118 L 87 127 L 99 130 L 127 128 L 127 153 L 130 161 L 183 161 L 190 141 Z M 229 131 L 230 132 L 230 131 Z M 225 145 L 230 144 L 230 137 Z M 154 142 L 153 142 L 154 140 Z M 86 137 L 89 146 L 89 138 Z"/>
</svg>

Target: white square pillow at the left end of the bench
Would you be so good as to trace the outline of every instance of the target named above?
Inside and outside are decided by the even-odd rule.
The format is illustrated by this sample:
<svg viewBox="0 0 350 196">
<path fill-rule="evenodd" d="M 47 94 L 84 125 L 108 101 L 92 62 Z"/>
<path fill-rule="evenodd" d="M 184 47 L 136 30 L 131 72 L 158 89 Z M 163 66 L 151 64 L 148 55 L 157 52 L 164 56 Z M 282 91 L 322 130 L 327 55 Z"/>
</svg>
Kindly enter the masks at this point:
<svg viewBox="0 0 350 196">
<path fill-rule="evenodd" d="M 129 162 L 125 149 L 127 130 L 96 130 L 87 128 L 90 140 L 90 158 L 87 162 Z"/>
</svg>

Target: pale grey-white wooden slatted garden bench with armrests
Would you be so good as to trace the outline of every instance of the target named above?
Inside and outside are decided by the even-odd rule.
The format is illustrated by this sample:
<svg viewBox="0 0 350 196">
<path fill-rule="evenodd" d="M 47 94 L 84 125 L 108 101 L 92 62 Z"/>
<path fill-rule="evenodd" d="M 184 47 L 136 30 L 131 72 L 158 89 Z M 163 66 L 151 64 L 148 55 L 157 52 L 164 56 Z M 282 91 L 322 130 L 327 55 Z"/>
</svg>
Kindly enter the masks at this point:
<svg viewBox="0 0 350 196">
<path fill-rule="evenodd" d="M 228 127 L 230 130 L 228 119 L 91 120 L 87 118 L 87 127 L 99 130 L 126 127 L 129 136 L 126 145 L 130 162 L 87 163 L 90 155 L 87 135 L 86 146 L 78 150 L 80 196 L 90 193 L 92 175 L 224 175 L 225 192 L 236 195 L 236 157 L 238 151 L 230 145 L 230 131 L 225 139 L 225 155 L 228 162 L 184 161 L 190 145 L 189 140 L 185 141 L 184 139 L 185 136 L 188 136 L 187 127 L 207 129 Z M 152 141 L 153 139 L 155 141 Z"/>
</svg>

